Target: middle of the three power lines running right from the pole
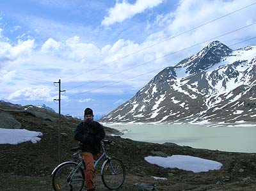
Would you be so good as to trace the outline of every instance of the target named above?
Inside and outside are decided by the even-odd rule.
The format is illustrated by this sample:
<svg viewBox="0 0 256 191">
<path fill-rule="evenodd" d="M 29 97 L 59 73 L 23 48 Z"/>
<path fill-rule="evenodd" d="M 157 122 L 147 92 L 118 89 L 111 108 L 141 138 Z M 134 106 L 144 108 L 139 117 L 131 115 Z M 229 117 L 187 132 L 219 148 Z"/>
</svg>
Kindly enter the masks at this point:
<svg viewBox="0 0 256 191">
<path fill-rule="evenodd" d="M 157 59 L 162 59 L 162 58 L 167 57 L 167 56 L 170 56 L 170 55 L 172 55 L 172 54 L 176 54 L 176 53 L 178 53 L 178 52 L 182 52 L 183 50 L 190 49 L 191 47 L 195 47 L 195 46 L 197 46 L 197 45 L 200 45 L 200 44 L 205 43 L 205 42 L 209 42 L 209 41 L 214 40 L 214 39 L 216 39 L 216 38 L 220 38 L 220 37 L 225 36 L 225 35 L 227 35 L 227 34 L 234 33 L 234 32 L 236 32 L 236 31 L 239 31 L 239 30 L 244 29 L 244 28 L 246 28 L 246 27 L 250 27 L 250 26 L 252 26 L 252 25 L 254 25 L 254 24 L 256 24 L 256 22 L 253 23 L 253 24 L 250 24 L 250 25 L 248 25 L 248 26 L 244 26 L 244 27 L 241 27 L 241 28 L 239 28 L 239 29 L 236 29 L 236 30 L 234 30 L 234 31 L 230 31 L 230 32 L 225 33 L 225 34 L 221 34 L 220 36 L 216 36 L 216 37 L 214 37 L 214 38 L 205 40 L 204 42 L 196 43 L 195 45 L 191 45 L 191 46 L 189 46 L 189 47 L 186 47 L 186 48 L 184 48 L 184 49 L 177 50 L 177 51 L 175 51 L 175 52 L 170 52 L 169 54 L 166 54 L 166 55 L 161 56 L 161 57 L 156 57 L 155 59 L 152 59 L 152 60 L 147 61 L 147 62 L 145 62 L 145 63 L 141 63 L 140 65 L 132 66 L 132 67 L 130 67 L 130 68 L 127 68 L 127 69 L 125 69 L 125 70 L 122 70 L 122 71 L 113 73 L 113 74 L 111 74 L 111 75 L 107 75 L 106 77 L 101 77 L 101 78 L 99 78 L 99 79 L 92 80 L 91 82 L 86 82 L 86 83 L 84 83 L 84 84 L 80 84 L 79 86 L 74 86 L 73 88 L 70 88 L 70 89 L 79 88 L 79 87 L 84 86 L 84 85 L 86 85 L 86 84 L 91 84 L 92 82 L 97 82 L 97 81 L 99 81 L 99 80 L 106 79 L 107 77 L 111 77 L 111 76 L 116 75 L 116 74 L 118 74 L 118 73 L 126 72 L 126 71 L 128 71 L 128 70 L 133 69 L 133 68 L 137 68 L 137 67 L 139 67 L 139 66 L 146 65 L 147 63 L 150 63 L 150 62 L 152 62 L 152 61 L 156 61 Z M 240 43 L 241 43 L 241 42 L 240 42 Z M 70 89 L 67 89 L 67 91 L 70 90 Z"/>
</svg>

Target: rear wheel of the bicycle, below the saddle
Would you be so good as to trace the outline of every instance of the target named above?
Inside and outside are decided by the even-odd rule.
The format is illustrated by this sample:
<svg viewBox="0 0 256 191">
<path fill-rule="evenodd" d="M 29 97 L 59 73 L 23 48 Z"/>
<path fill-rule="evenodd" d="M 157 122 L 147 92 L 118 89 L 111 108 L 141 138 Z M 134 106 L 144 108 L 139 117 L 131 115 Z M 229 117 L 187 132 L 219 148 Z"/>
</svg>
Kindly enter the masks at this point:
<svg viewBox="0 0 256 191">
<path fill-rule="evenodd" d="M 77 169 L 71 181 L 68 180 L 68 176 L 70 176 L 70 173 L 77 165 L 76 162 L 65 162 L 54 170 L 52 174 L 52 187 L 55 191 L 81 191 L 83 189 L 84 170 L 82 167 Z M 76 180 L 73 180 L 74 178 Z"/>
</svg>

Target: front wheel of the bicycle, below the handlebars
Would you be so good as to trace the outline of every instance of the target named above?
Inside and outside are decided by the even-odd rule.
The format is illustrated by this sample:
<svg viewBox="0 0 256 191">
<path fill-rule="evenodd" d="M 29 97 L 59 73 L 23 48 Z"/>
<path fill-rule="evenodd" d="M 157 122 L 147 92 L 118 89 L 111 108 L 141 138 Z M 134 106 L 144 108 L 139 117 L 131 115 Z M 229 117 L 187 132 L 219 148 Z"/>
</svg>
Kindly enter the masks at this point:
<svg viewBox="0 0 256 191">
<path fill-rule="evenodd" d="M 125 169 L 122 162 L 112 158 L 106 160 L 102 165 L 102 182 L 109 190 L 115 190 L 122 187 L 125 180 Z"/>
</svg>

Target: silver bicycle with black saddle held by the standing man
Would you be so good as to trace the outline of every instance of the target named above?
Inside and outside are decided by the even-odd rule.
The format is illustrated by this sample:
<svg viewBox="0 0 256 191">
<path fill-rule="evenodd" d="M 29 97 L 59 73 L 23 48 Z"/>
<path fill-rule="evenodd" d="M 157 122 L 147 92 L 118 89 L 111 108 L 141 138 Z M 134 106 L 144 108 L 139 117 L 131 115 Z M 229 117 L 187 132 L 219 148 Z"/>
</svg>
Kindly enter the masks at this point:
<svg viewBox="0 0 256 191">
<path fill-rule="evenodd" d="M 122 187 L 125 180 L 124 164 L 117 158 L 111 158 L 106 153 L 104 148 L 105 144 L 114 144 L 110 140 L 101 141 L 102 155 L 99 159 L 94 161 L 94 168 L 100 160 L 105 159 L 100 170 L 102 183 L 109 190 L 115 190 Z M 67 161 L 58 165 L 52 171 L 52 187 L 55 191 L 69 190 L 69 191 L 81 191 L 84 187 L 85 175 L 84 170 L 86 166 L 81 157 L 81 147 L 72 148 L 70 151 L 78 151 L 73 155 L 79 155 L 77 162 Z"/>
</svg>

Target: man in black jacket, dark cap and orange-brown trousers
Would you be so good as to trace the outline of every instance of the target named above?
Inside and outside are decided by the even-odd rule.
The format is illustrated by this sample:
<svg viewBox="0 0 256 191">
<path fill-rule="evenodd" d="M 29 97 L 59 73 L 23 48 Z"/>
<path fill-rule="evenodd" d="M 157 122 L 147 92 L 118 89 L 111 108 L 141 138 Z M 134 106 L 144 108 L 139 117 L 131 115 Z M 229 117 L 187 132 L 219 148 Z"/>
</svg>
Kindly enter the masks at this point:
<svg viewBox="0 0 256 191">
<path fill-rule="evenodd" d="M 86 189 L 95 190 L 93 185 L 95 169 L 94 159 L 99 157 L 100 141 L 105 137 L 102 125 L 93 121 L 93 111 L 90 108 L 84 110 L 84 121 L 79 123 L 74 132 L 74 138 L 82 144 L 83 160 L 86 165 L 85 181 Z"/>
</svg>

